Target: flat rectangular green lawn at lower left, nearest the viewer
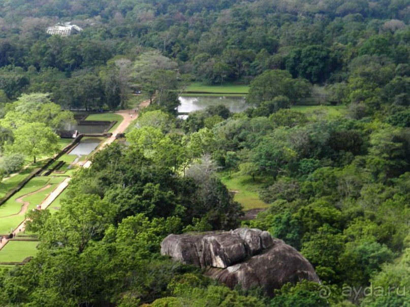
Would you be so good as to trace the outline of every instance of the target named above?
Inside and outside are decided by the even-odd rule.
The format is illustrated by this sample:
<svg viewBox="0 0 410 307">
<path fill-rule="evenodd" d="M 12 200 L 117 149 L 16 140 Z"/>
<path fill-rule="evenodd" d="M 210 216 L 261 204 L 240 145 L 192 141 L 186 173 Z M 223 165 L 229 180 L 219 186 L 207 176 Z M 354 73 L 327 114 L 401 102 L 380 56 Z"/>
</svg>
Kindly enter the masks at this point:
<svg viewBox="0 0 410 307">
<path fill-rule="evenodd" d="M 0 251 L 0 262 L 21 262 L 37 254 L 36 241 L 10 241 Z"/>
</svg>

